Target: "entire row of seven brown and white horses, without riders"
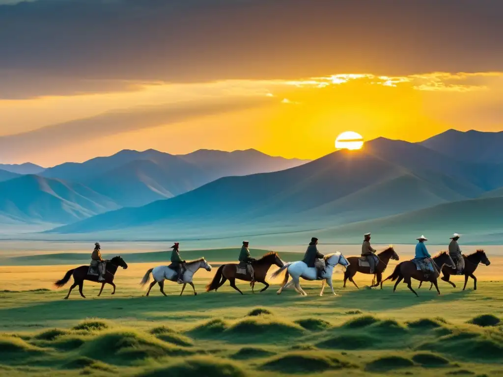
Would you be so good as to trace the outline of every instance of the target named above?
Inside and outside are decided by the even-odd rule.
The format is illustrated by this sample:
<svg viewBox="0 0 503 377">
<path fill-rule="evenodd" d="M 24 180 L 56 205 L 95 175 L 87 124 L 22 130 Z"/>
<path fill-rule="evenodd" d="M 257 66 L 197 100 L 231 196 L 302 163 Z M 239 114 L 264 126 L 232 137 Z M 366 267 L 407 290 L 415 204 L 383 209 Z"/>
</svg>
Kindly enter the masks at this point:
<svg viewBox="0 0 503 377">
<path fill-rule="evenodd" d="M 433 261 L 435 262 L 435 267 L 437 268 L 438 273 L 426 273 L 423 272 L 422 270 L 418 270 L 416 268 L 416 265 L 413 261 L 407 260 L 403 262 L 399 262 L 391 275 L 389 275 L 386 279 L 382 279 L 383 277 L 383 272 L 385 271 L 386 267 L 388 266 L 388 263 L 391 259 L 393 260 L 399 260 L 398 254 L 395 252 L 392 246 L 387 247 L 385 250 L 381 251 L 380 253 L 376 254 L 378 258 L 378 263 L 375 266 L 375 270 L 371 273 L 370 267 L 365 266 L 365 265 L 360 265 L 358 259 L 360 258 L 359 256 L 352 256 L 349 258 L 346 258 L 342 253 L 336 252 L 336 253 L 331 253 L 327 254 L 324 256 L 324 263 L 325 263 L 325 271 L 321 276 L 321 292 L 319 296 L 323 295 L 325 286 L 328 285 L 332 291 L 333 295 L 337 294 L 333 290 L 333 285 L 332 285 L 332 275 L 335 267 L 337 265 L 341 265 L 346 268 L 344 272 L 344 286 L 343 288 L 346 288 L 346 281 L 349 279 L 356 288 L 359 288 L 353 279 L 355 274 L 357 272 L 364 273 L 364 274 L 370 274 L 374 276 L 372 287 L 378 287 L 382 289 L 383 282 L 386 280 L 391 280 L 395 281 L 395 285 L 393 288 L 393 292 L 395 292 L 396 287 L 398 284 L 403 280 L 403 282 L 407 285 L 408 289 L 413 292 L 416 296 L 417 293 L 412 289 L 411 286 L 411 281 L 412 279 L 420 281 L 419 288 L 421 288 L 421 285 L 423 284 L 423 281 L 429 281 L 431 282 L 430 290 L 432 289 L 433 286 L 437 289 L 438 294 L 440 295 L 440 290 L 437 284 L 437 278 L 440 275 L 440 271 L 442 272 L 443 276 L 441 277 L 442 280 L 448 282 L 451 284 L 454 288 L 456 288 L 456 285 L 450 280 L 451 275 L 457 274 L 456 270 L 456 265 L 450 255 L 446 251 L 441 251 L 439 252 L 436 256 L 433 257 Z M 487 258 L 487 255 L 485 254 L 484 250 L 477 250 L 476 252 L 470 254 L 470 255 L 463 255 L 463 258 L 465 260 L 465 268 L 462 271 L 462 274 L 465 276 L 465 284 L 463 287 L 463 291 L 466 289 L 466 284 L 468 282 L 468 277 L 471 277 L 473 279 L 473 289 L 477 289 L 477 278 L 473 274 L 476 268 L 478 267 L 479 264 L 484 264 L 488 266 L 490 264 L 489 259 Z M 262 256 L 262 258 L 254 260 L 253 261 L 253 268 L 255 271 L 255 276 L 254 276 L 254 281 L 251 281 L 251 277 L 248 274 L 241 274 L 238 273 L 238 264 L 235 263 L 228 263 L 228 264 L 222 264 L 221 266 L 218 267 L 215 276 L 211 280 L 211 282 L 206 286 L 206 292 L 210 291 L 217 291 L 220 287 L 222 287 L 225 282 L 228 280 L 229 285 L 239 292 L 241 295 L 243 294 L 239 288 L 236 287 L 236 279 L 237 280 L 243 280 L 243 281 L 249 281 L 250 282 L 250 287 L 253 292 L 255 292 L 255 284 L 257 282 L 262 283 L 265 287 L 260 291 L 264 292 L 269 288 L 269 284 L 266 281 L 266 276 L 267 273 L 269 272 L 269 269 L 271 268 L 272 265 L 276 265 L 278 269 L 273 272 L 272 277 L 278 277 L 283 271 L 285 271 L 285 277 L 283 279 L 283 282 L 281 284 L 281 288 L 278 290 L 277 294 L 281 294 L 284 289 L 290 287 L 291 285 L 294 286 L 295 290 L 303 296 L 307 296 L 307 294 L 302 290 L 300 286 L 300 279 L 304 280 L 317 280 L 317 273 L 315 268 L 310 268 L 308 267 L 304 262 L 302 261 L 296 261 L 296 262 L 288 262 L 285 263 L 281 260 L 279 257 L 278 253 L 276 252 L 269 252 Z M 80 293 L 80 296 L 83 298 L 86 298 L 86 296 L 83 295 L 82 293 L 82 288 L 83 288 L 83 282 L 85 280 L 89 281 L 95 281 L 95 282 L 101 282 L 101 290 L 98 296 L 100 296 L 103 292 L 103 288 L 105 287 L 106 284 L 110 284 L 113 287 L 113 292 L 112 295 L 115 294 L 115 284 L 114 284 L 114 277 L 115 273 L 117 272 L 117 269 L 119 267 L 122 267 L 126 269 L 128 267 L 127 263 L 124 261 L 124 259 L 118 255 L 112 258 L 111 260 L 107 261 L 106 264 L 106 275 L 105 275 L 105 281 L 98 281 L 98 276 L 97 275 L 92 275 L 89 274 L 89 266 L 80 266 L 74 269 L 70 269 L 69 271 L 66 272 L 64 277 L 60 280 L 57 280 L 55 282 L 56 287 L 63 287 L 73 276 L 73 285 L 70 287 L 70 290 L 68 291 L 68 294 L 66 295 L 65 299 L 68 299 L 70 296 L 71 291 L 78 286 L 78 291 Z M 186 264 L 187 270 L 185 271 L 183 277 L 183 287 L 182 287 L 182 292 L 180 293 L 180 296 L 183 294 L 185 287 L 187 284 L 189 284 L 192 289 L 194 290 L 194 295 L 197 295 L 196 289 L 193 284 L 193 277 L 195 273 L 201 269 L 204 268 L 207 271 L 211 271 L 212 267 L 211 265 L 206 261 L 205 258 L 200 258 L 197 260 L 193 260 L 190 262 L 187 262 Z M 146 285 L 149 280 L 150 280 L 150 275 L 153 277 L 153 281 L 150 283 L 148 287 L 148 291 L 146 293 L 146 296 L 149 295 L 150 290 L 156 285 L 159 285 L 160 292 L 164 295 L 167 296 L 164 293 L 164 281 L 176 281 L 177 280 L 177 272 L 173 269 L 171 269 L 169 266 L 157 266 L 155 268 L 150 268 L 149 270 L 146 271 L 145 275 L 141 279 L 140 285 L 144 286 Z M 292 279 L 289 281 L 290 276 Z"/>
</svg>

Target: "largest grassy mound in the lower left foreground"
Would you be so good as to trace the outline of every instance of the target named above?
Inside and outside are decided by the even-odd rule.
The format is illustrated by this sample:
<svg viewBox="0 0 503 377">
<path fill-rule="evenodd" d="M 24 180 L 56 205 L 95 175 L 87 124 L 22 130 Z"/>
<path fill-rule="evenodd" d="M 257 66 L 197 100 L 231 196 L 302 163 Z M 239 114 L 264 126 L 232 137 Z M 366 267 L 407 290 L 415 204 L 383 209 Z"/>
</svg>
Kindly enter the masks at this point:
<svg viewBox="0 0 503 377">
<path fill-rule="evenodd" d="M 95 336 L 83 346 L 80 353 L 97 360 L 123 364 L 148 357 L 183 355 L 189 352 L 150 334 L 122 330 Z"/>
</svg>

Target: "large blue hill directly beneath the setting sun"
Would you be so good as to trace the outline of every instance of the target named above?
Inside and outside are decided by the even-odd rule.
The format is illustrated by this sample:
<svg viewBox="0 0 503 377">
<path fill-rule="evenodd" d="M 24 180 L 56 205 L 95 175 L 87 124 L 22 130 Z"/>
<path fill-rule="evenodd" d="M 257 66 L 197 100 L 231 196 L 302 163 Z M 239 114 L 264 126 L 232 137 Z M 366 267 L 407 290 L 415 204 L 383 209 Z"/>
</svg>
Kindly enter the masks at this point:
<svg viewBox="0 0 503 377">
<path fill-rule="evenodd" d="M 177 224 L 295 221 L 320 226 L 379 218 L 476 198 L 486 182 L 473 166 L 424 146 L 377 139 L 287 170 L 224 177 L 178 197 L 128 208 L 54 232 L 79 233 Z"/>
</svg>

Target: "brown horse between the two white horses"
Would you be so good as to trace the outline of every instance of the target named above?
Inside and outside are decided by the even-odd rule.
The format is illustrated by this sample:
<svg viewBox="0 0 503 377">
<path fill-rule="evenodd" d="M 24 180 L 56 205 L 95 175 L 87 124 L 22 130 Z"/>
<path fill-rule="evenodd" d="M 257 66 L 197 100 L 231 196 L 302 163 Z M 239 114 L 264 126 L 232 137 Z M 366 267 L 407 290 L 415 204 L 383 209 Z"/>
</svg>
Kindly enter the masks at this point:
<svg viewBox="0 0 503 377">
<path fill-rule="evenodd" d="M 278 256 L 278 253 L 273 251 L 265 254 L 262 258 L 251 262 L 251 266 L 254 269 L 255 281 L 261 282 L 266 286 L 260 292 L 264 292 L 269 288 L 269 284 L 266 281 L 266 275 L 267 271 L 269 271 L 269 268 L 271 268 L 273 264 L 276 264 L 278 267 L 283 267 L 284 265 L 283 261 Z M 236 287 L 236 279 L 251 281 L 251 276 L 248 273 L 236 273 L 237 266 L 238 264 L 236 263 L 222 264 L 218 268 L 217 273 L 215 273 L 213 280 L 211 280 L 210 284 L 206 286 L 206 292 L 213 290 L 217 291 L 228 279 L 230 286 L 242 295 L 243 293 Z M 252 285 L 250 283 L 250 286 L 253 289 L 255 284 Z"/>
</svg>

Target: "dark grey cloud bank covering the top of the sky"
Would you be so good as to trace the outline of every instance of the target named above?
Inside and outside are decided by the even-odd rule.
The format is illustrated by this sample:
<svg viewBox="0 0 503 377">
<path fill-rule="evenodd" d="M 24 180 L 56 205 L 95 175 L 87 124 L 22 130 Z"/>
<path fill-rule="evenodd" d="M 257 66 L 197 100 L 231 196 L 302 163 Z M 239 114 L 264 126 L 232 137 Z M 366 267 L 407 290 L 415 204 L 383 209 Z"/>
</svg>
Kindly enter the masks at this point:
<svg viewBox="0 0 503 377">
<path fill-rule="evenodd" d="M 39 0 L 0 6 L 0 70 L 179 82 L 503 70 L 502 18 L 499 0 Z"/>
</svg>

